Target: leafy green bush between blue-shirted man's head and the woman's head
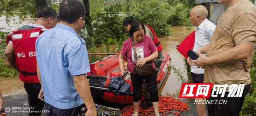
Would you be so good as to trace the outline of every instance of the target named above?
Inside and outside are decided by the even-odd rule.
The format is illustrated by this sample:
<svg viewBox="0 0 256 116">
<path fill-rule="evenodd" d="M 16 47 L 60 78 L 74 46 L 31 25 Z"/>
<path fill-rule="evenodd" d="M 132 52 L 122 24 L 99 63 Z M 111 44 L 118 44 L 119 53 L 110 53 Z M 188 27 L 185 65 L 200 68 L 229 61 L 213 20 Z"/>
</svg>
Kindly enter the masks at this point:
<svg viewBox="0 0 256 116">
<path fill-rule="evenodd" d="M 95 39 L 95 44 L 107 43 L 109 38 L 117 41 L 128 39 L 128 31 L 123 26 L 124 16 L 119 15 L 122 5 L 110 5 L 100 12 L 91 15 L 91 24 L 85 25 L 89 37 Z"/>
</svg>

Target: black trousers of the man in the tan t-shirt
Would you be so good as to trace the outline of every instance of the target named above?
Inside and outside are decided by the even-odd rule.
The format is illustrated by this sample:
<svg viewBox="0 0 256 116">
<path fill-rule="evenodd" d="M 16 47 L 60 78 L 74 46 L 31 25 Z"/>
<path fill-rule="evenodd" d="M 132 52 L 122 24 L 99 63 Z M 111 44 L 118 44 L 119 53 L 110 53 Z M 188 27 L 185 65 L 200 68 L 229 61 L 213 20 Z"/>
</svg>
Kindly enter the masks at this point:
<svg viewBox="0 0 256 116">
<path fill-rule="evenodd" d="M 210 94 L 209 100 L 223 100 L 227 101 L 227 104 L 207 104 L 208 105 L 208 114 L 209 116 L 239 116 L 241 108 L 244 103 L 246 94 L 249 92 L 251 84 L 244 86 L 244 91 L 242 97 L 228 97 L 229 92 L 225 92 L 224 97 L 212 97 L 212 91 Z M 216 91 L 215 91 L 216 94 Z"/>
</svg>

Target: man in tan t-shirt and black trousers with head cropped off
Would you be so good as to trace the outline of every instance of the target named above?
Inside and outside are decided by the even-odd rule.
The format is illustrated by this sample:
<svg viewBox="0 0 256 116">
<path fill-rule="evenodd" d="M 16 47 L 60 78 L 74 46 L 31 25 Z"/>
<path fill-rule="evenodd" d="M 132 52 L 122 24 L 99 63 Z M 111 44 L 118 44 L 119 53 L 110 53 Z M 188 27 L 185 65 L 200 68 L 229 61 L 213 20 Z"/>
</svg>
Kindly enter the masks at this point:
<svg viewBox="0 0 256 116">
<path fill-rule="evenodd" d="M 219 0 L 219 4 L 227 5 L 228 9 L 220 16 L 211 42 L 196 50 L 199 58 L 188 58 L 188 63 L 205 68 L 204 83 L 213 83 L 212 88 L 224 84 L 245 85 L 242 97 L 227 97 L 227 88 L 224 97 L 212 97 L 211 92 L 208 98 L 208 101 L 227 100 L 227 104 L 208 104 L 209 116 L 239 116 L 252 82 L 256 7 L 248 0 Z"/>
</svg>

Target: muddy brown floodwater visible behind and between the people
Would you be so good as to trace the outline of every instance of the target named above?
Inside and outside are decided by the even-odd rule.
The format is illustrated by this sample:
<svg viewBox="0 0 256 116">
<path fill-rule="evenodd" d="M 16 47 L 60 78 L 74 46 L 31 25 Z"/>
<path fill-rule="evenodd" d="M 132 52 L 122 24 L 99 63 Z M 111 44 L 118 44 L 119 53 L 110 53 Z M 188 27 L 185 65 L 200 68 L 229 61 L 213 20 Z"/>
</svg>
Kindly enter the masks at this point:
<svg viewBox="0 0 256 116">
<path fill-rule="evenodd" d="M 25 19 L 24 21 L 18 19 L 18 17 L 16 17 L 15 19 L 15 21 L 11 21 L 10 27 L 8 27 L 5 22 L 5 16 L 0 17 L 0 28 L 4 27 L 4 29 L 1 29 L 0 31 L 15 31 L 17 28 L 22 27 L 23 25 L 34 22 L 32 18 Z M 23 23 L 13 24 L 19 23 L 20 21 L 22 21 Z M 192 33 L 192 31 L 194 31 L 194 27 L 192 27 L 192 30 L 186 30 L 185 27 L 172 27 L 172 29 L 178 31 L 178 33 L 175 35 L 169 35 L 159 38 L 160 43 L 163 47 L 162 51 L 168 53 L 171 56 L 171 66 L 176 67 L 176 69 L 180 69 L 180 72 L 184 72 L 184 56 L 177 52 L 176 45 L 180 44 L 190 33 Z M 176 73 L 174 73 L 173 70 L 171 70 L 170 73 L 171 74 L 168 77 L 163 91 L 159 92 L 159 94 L 161 95 L 177 94 L 177 92 L 179 92 L 181 88 L 181 82 L 178 81 L 178 77 L 175 75 Z M 187 78 L 186 72 L 183 73 L 183 76 Z M 0 78 L 0 90 L 4 97 L 9 95 L 26 93 L 26 91 L 24 90 L 24 83 L 21 82 L 18 78 Z"/>
</svg>

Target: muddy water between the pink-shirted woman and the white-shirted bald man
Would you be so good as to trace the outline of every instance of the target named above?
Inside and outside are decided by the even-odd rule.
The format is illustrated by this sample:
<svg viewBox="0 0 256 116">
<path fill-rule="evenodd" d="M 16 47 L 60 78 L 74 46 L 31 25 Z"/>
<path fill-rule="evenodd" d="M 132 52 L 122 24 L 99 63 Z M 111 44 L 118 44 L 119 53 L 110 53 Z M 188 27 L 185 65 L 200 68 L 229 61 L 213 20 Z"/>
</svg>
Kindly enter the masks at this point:
<svg viewBox="0 0 256 116">
<path fill-rule="evenodd" d="M 175 31 L 178 31 L 176 35 L 169 35 L 163 38 L 158 38 L 163 47 L 163 52 L 168 53 L 172 58 L 171 66 L 174 66 L 176 69 L 180 69 L 180 72 L 184 72 L 184 56 L 177 52 L 176 46 L 179 45 L 189 34 L 191 34 L 195 28 L 192 27 L 192 30 L 186 30 L 185 27 L 172 27 Z M 164 94 L 177 94 L 176 91 L 179 91 L 181 88 L 181 81 L 178 81 L 178 77 L 175 75 L 173 70 L 171 70 L 171 74 L 168 77 L 166 85 L 162 91 L 162 95 Z M 186 77 L 187 74 L 184 72 L 183 77 Z"/>
</svg>

